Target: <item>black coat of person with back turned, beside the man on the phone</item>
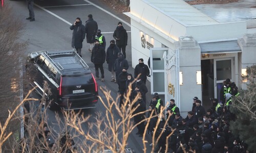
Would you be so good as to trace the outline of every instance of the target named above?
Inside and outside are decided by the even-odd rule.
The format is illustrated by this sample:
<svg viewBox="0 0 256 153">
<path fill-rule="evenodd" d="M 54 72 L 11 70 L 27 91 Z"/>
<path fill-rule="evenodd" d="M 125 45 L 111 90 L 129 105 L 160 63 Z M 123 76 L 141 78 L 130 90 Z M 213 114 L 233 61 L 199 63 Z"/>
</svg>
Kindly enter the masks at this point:
<svg viewBox="0 0 256 153">
<path fill-rule="evenodd" d="M 89 18 L 86 21 L 86 41 L 87 43 L 95 42 L 96 31 L 98 30 L 98 24 L 93 18 Z"/>
</svg>

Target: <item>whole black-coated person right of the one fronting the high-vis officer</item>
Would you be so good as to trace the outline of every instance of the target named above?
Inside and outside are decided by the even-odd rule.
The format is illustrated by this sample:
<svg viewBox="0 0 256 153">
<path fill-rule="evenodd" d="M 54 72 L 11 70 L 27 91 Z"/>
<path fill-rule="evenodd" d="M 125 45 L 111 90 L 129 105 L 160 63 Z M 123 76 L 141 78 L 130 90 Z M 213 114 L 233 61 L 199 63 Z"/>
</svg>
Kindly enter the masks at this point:
<svg viewBox="0 0 256 153">
<path fill-rule="evenodd" d="M 115 40 L 110 41 L 110 46 L 106 49 L 106 64 L 109 64 L 109 71 L 111 72 L 111 82 L 116 81 L 116 73 L 114 71 L 115 61 L 117 54 L 120 52 L 119 48 L 115 44 Z"/>
</svg>

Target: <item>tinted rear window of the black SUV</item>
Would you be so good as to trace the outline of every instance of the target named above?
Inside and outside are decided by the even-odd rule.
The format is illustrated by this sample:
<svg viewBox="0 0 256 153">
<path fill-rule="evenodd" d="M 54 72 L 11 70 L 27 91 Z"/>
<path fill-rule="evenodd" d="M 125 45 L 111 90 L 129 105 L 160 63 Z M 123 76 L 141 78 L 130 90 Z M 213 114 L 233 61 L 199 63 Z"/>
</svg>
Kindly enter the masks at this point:
<svg viewBox="0 0 256 153">
<path fill-rule="evenodd" d="M 82 75 L 66 75 L 62 77 L 62 86 L 85 85 L 93 83 L 94 81 L 91 73 Z"/>
</svg>

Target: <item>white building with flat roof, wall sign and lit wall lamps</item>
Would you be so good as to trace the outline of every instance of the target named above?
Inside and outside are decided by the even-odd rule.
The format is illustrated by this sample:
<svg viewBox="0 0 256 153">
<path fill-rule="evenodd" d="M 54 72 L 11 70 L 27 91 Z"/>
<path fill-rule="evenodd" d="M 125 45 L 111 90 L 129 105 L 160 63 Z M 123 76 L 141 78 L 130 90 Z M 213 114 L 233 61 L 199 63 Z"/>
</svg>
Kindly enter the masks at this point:
<svg viewBox="0 0 256 153">
<path fill-rule="evenodd" d="M 151 57 L 152 94 L 174 98 L 183 116 L 194 96 L 203 104 L 219 97 L 227 78 L 243 87 L 242 69 L 256 63 L 246 21 L 220 23 L 183 0 L 131 0 L 130 7 L 132 66 Z"/>
</svg>

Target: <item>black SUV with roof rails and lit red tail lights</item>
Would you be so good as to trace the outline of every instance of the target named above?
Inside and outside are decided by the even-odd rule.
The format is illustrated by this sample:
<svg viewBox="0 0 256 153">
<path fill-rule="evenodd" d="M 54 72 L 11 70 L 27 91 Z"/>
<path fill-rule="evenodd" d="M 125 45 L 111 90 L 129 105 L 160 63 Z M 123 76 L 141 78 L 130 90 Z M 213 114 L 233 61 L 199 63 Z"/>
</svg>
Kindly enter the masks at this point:
<svg viewBox="0 0 256 153">
<path fill-rule="evenodd" d="M 74 50 L 44 50 L 28 55 L 26 73 L 37 92 L 47 96 L 48 107 L 56 110 L 94 108 L 98 87 L 88 65 Z M 44 93 L 47 81 L 51 95 Z"/>
</svg>

